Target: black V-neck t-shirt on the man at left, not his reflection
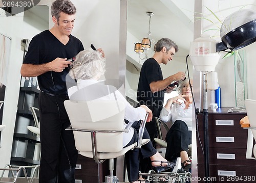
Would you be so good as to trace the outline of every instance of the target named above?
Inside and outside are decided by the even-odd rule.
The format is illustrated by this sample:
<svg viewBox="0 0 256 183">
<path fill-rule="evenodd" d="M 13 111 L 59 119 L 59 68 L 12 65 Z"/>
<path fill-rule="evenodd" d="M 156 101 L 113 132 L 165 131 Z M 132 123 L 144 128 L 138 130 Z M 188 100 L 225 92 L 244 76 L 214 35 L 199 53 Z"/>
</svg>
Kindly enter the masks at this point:
<svg viewBox="0 0 256 183">
<path fill-rule="evenodd" d="M 69 42 L 62 44 L 49 30 L 37 34 L 29 44 L 28 53 L 23 61 L 24 64 L 44 64 L 59 58 L 73 58 L 81 50 L 83 45 L 76 37 L 70 35 Z M 69 68 L 62 72 L 49 71 L 37 76 L 41 91 L 67 95 L 66 75 Z"/>
</svg>

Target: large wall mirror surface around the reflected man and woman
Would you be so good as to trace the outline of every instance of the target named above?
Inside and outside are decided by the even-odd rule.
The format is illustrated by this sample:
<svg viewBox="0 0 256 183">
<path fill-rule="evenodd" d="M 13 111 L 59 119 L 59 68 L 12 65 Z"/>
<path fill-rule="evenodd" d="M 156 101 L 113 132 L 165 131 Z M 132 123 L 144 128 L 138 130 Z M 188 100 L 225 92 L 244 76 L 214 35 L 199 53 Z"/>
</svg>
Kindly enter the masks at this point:
<svg viewBox="0 0 256 183">
<path fill-rule="evenodd" d="M 189 58 L 186 63 L 186 57 L 189 54 L 190 42 L 194 40 L 194 4 L 195 1 L 191 0 L 127 1 L 125 91 L 127 100 L 134 106 L 137 104 L 137 87 L 141 66 L 146 60 L 145 57 L 150 58 L 154 55 L 154 45 L 159 39 L 169 38 L 176 42 L 179 47 L 172 61 L 169 61 L 167 65 L 160 65 L 163 78 L 165 79 L 179 71 L 186 71 L 186 77 L 188 72 L 190 77 L 193 76 L 193 65 Z M 148 14 L 148 12 L 152 12 L 154 15 Z M 141 43 L 142 39 L 147 37 L 151 40 L 151 48 L 140 55 L 135 53 L 135 43 Z M 177 91 L 170 94 L 165 93 L 164 105 L 168 98 L 176 95 L 178 95 Z M 170 127 L 170 122 L 167 125 Z M 162 130 L 162 133 L 165 140 L 166 131 Z M 192 143 L 196 144 L 195 142 L 196 138 L 193 136 Z M 158 148 L 164 156 L 165 148 Z"/>
</svg>

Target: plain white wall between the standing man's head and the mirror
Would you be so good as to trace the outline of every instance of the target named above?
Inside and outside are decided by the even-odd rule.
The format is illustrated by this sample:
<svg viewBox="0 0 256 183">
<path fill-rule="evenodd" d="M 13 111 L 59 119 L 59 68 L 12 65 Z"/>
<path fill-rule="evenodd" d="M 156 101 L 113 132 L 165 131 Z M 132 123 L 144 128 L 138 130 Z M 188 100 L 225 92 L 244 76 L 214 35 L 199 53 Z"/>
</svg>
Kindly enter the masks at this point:
<svg viewBox="0 0 256 183">
<path fill-rule="evenodd" d="M 119 0 L 84 0 L 73 1 L 77 8 L 75 27 L 72 32 L 79 38 L 84 48 L 94 44 L 101 47 L 106 57 L 105 76 L 118 79 L 120 64 L 120 1 Z M 125 12 L 123 12 L 125 13 Z M 123 26 L 126 33 L 126 25 Z M 125 39 L 125 38 L 124 38 Z M 124 74 L 123 74 L 124 77 Z"/>
</svg>

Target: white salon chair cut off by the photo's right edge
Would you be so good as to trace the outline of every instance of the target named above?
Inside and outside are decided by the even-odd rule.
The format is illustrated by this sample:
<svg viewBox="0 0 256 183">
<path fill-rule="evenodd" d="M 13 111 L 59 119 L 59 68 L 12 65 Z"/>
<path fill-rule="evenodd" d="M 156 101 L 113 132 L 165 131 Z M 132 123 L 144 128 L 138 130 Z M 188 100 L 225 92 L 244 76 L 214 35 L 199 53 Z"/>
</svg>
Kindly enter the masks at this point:
<svg viewBox="0 0 256 183">
<path fill-rule="evenodd" d="M 254 144 L 254 141 L 256 141 L 256 100 L 246 99 L 245 108 L 250 122 L 250 127 L 248 127 L 246 159 L 256 160 L 256 144 Z"/>
</svg>

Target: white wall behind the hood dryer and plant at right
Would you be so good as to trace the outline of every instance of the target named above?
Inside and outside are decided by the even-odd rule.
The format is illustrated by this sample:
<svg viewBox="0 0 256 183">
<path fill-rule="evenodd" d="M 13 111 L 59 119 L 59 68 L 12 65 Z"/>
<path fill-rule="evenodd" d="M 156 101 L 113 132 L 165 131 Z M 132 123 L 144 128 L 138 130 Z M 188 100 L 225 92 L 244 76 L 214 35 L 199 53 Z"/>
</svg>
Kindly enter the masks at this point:
<svg viewBox="0 0 256 183">
<path fill-rule="evenodd" d="M 239 1 L 239 0 L 224 0 L 224 1 L 203 1 L 203 16 L 210 19 L 214 22 L 207 20 L 202 20 L 202 31 L 209 29 L 217 29 L 215 31 L 207 31 L 210 36 L 215 35 L 215 39 L 220 42 L 219 28 L 221 27 L 224 19 L 229 16 L 231 13 L 238 11 L 243 7 L 243 9 L 253 9 L 256 10 L 255 0 L 248 1 Z M 246 5 L 246 6 L 245 6 Z M 245 6 L 245 7 L 244 7 Z M 216 16 L 221 20 L 219 22 L 217 18 L 206 9 L 208 7 Z M 243 49 L 246 50 L 246 62 L 247 62 L 247 86 L 248 86 L 248 98 L 256 99 L 255 91 L 256 86 L 253 83 L 255 78 L 255 72 L 253 68 L 256 68 L 256 63 L 254 62 L 254 53 L 255 53 L 256 43 L 253 43 Z M 222 59 L 225 55 L 225 52 L 221 53 L 221 58 L 218 65 L 216 66 L 216 72 L 218 72 L 218 83 L 221 87 L 221 102 L 222 107 L 232 107 L 236 105 L 236 96 L 235 96 L 235 86 L 234 86 L 234 57 L 227 59 Z M 208 94 L 209 95 L 209 94 Z M 209 103 L 209 102 L 208 102 Z"/>
</svg>

